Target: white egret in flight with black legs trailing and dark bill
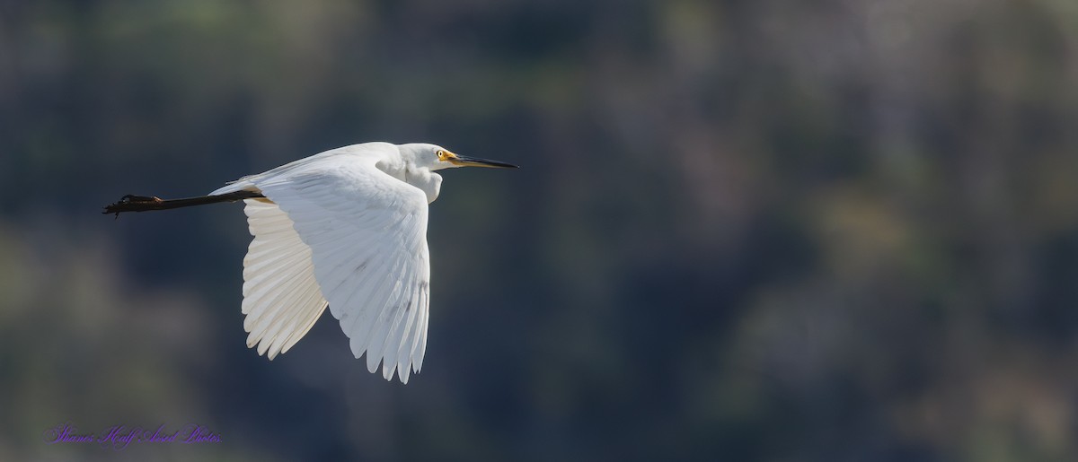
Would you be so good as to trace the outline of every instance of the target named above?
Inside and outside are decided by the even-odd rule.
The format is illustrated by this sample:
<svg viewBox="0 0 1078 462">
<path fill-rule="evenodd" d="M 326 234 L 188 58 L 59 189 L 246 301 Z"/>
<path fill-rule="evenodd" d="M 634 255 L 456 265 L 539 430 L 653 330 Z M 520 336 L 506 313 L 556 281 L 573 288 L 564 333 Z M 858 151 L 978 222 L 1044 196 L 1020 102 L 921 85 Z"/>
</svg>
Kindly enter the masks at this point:
<svg viewBox="0 0 1078 462">
<path fill-rule="evenodd" d="M 243 200 L 247 346 L 273 360 L 327 306 L 371 373 L 407 383 L 423 368 L 430 307 L 427 205 L 451 167 L 516 168 L 426 143 L 369 142 L 240 178 L 208 196 L 124 196 L 105 213 Z"/>
</svg>

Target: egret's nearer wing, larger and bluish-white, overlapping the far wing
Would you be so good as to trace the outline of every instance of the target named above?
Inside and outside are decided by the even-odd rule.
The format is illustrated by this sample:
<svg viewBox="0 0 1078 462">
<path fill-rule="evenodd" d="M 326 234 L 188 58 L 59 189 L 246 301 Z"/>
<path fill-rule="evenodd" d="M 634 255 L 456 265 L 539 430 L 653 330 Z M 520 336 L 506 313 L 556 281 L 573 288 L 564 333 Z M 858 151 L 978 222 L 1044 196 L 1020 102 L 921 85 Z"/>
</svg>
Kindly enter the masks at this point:
<svg viewBox="0 0 1078 462">
<path fill-rule="evenodd" d="M 244 179 L 273 200 L 309 247 L 315 280 L 356 358 L 407 383 L 423 367 L 430 263 L 427 196 L 375 167 L 332 155 Z"/>
</svg>

